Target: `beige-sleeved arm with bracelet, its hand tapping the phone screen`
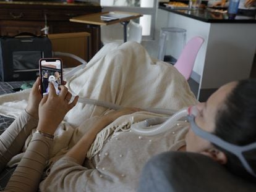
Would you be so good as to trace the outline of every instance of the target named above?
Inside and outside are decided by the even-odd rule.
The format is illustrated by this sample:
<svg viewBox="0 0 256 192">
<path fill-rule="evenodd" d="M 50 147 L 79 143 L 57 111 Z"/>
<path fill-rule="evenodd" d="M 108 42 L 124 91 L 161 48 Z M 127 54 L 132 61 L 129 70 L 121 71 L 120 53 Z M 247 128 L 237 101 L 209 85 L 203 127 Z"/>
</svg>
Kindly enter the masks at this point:
<svg viewBox="0 0 256 192">
<path fill-rule="evenodd" d="M 78 97 L 69 104 L 71 94 L 61 86 L 59 96 L 52 84 L 49 94 L 39 104 L 39 122 L 36 133 L 25 154 L 6 186 L 6 191 L 36 191 L 41 174 L 49 158 L 53 134 L 67 112 L 77 103 Z M 58 109 L 58 111 L 56 111 Z"/>
</svg>

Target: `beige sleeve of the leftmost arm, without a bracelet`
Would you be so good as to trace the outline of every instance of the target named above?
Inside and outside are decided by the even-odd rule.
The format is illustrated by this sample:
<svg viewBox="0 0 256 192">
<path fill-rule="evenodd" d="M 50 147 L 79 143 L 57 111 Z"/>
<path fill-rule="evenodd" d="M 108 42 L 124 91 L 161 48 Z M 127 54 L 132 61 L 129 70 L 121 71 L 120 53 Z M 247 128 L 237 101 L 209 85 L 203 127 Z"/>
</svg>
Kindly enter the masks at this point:
<svg viewBox="0 0 256 192">
<path fill-rule="evenodd" d="M 10 159 L 21 151 L 25 140 L 37 124 L 37 119 L 23 111 L 0 135 L 0 172 L 6 167 Z"/>
</svg>

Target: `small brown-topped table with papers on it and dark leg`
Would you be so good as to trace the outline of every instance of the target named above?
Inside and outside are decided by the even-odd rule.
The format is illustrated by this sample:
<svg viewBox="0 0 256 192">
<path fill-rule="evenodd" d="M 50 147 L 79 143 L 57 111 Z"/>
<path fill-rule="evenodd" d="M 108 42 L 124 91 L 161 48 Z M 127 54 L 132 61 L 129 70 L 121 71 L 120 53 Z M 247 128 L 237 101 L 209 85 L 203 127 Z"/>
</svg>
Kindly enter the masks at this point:
<svg viewBox="0 0 256 192">
<path fill-rule="evenodd" d="M 131 19 L 136 19 L 136 18 L 142 17 L 141 14 L 137 14 L 137 13 L 114 11 L 114 13 L 116 13 L 116 14 L 129 14 L 130 17 L 125 17 L 125 18 L 117 19 L 117 20 L 111 20 L 108 22 L 101 20 L 100 16 L 108 14 L 108 13 L 109 12 L 100 12 L 100 13 L 96 13 L 96 14 L 82 15 L 82 16 L 78 16 L 78 17 L 73 17 L 72 19 L 69 19 L 69 20 L 70 20 L 70 22 L 86 23 L 86 24 L 90 24 L 90 25 L 96 25 L 98 27 L 100 25 L 112 25 L 115 23 L 121 23 L 122 25 L 124 25 L 124 42 L 126 42 L 127 41 L 127 24 L 129 23 L 129 21 Z"/>
</svg>

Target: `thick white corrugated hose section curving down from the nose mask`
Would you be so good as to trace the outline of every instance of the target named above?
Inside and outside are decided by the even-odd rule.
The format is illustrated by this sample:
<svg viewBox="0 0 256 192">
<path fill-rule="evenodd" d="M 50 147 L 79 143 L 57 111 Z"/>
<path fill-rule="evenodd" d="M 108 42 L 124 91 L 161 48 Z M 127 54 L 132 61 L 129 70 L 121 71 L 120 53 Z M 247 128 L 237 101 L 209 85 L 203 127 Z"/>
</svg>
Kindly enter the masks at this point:
<svg viewBox="0 0 256 192">
<path fill-rule="evenodd" d="M 177 120 L 187 115 L 188 115 L 187 108 L 181 109 L 161 125 L 148 127 L 148 124 L 149 124 L 148 121 L 144 120 L 142 122 L 132 124 L 130 128 L 134 133 L 138 135 L 146 135 L 146 136 L 157 135 L 159 133 L 163 133 L 164 131 L 170 128 L 173 128 L 176 125 Z"/>
</svg>

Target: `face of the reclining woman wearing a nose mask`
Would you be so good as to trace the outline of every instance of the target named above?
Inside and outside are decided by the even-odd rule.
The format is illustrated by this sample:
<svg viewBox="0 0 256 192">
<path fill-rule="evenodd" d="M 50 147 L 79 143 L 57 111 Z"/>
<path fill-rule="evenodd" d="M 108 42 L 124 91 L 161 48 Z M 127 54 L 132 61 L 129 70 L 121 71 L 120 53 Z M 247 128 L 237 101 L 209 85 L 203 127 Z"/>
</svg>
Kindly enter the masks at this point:
<svg viewBox="0 0 256 192">
<path fill-rule="evenodd" d="M 215 91 L 215 93 L 208 98 L 207 102 L 197 104 L 198 115 L 195 117 L 195 123 L 198 127 L 208 132 L 215 130 L 215 117 L 218 113 L 218 109 L 220 109 L 224 99 L 233 90 L 236 84 L 237 82 L 231 82 L 221 86 L 220 89 Z M 186 150 L 189 152 L 203 152 L 213 148 L 209 141 L 195 135 L 191 128 L 186 135 L 186 145 Z"/>
</svg>

